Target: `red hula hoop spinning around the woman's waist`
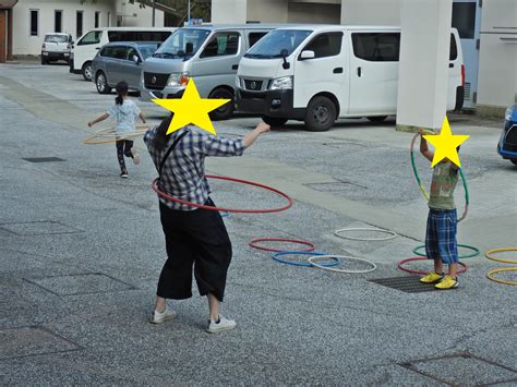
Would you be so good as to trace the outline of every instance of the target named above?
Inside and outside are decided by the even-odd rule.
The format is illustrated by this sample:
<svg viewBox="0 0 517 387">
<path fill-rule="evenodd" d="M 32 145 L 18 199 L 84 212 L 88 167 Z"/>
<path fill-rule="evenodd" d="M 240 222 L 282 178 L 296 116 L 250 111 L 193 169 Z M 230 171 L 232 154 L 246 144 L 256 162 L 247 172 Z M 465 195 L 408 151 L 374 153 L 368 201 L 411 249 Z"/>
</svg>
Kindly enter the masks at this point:
<svg viewBox="0 0 517 387">
<path fill-rule="evenodd" d="M 159 191 L 158 189 L 158 179 L 155 179 L 153 181 L 153 184 L 152 184 L 152 188 L 153 188 L 153 191 L 156 192 L 159 196 L 161 197 L 165 197 L 166 199 L 168 201 L 171 201 L 171 202 L 176 202 L 176 203 L 181 203 L 181 204 L 184 204 L 187 206 L 190 206 L 190 207 L 195 207 L 195 208 L 203 208 L 203 209 L 212 209 L 212 210 L 216 210 L 216 211 L 224 211 L 224 213 L 241 213 L 241 214 L 269 214 L 269 213 L 280 213 L 280 211 L 284 211 L 288 208 L 291 208 L 292 205 L 294 204 L 294 201 L 292 199 L 291 196 L 289 196 L 288 194 L 279 191 L 279 190 L 276 190 L 272 186 L 268 186 L 268 185 L 264 185 L 264 184 L 261 184 L 261 183 L 255 183 L 253 181 L 248 181 L 248 180 L 241 180 L 241 179 L 235 179 L 235 178 L 228 178 L 228 177 L 223 177 L 223 176 L 213 176 L 213 174 L 206 174 L 205 176 L 207 179 L 216 179 L 216 180 L 225 180 L 225 181 L 232 181 L 232 182 L 236 182 L 236 183 L 242 183 L 242 184 L 247 184 L 247 185 L 253 185 L 253 186 L 257 186 L 260 189 L 264 189 L 266 191 L 270 191 L 270 192 L 274 192 L 278 195 L 280 195 L 281 197 L 286 198 L 288 204 L 285 205 L 284 207 L 279 207 L 279 208 L 266 208 L 266 209 L 240 209 L 240 208 L 225 208 L 225 207 L 211 207 L 211 206 L 206 206 L 204 204 L 197 204 L 197 203 L 192 203 L 192 202 L 187 202 L 187 201 L 182 201 L 178 197 L 175 197 L 175 196 L 171 196 L 171 195 L 168 195 L 166 194 L 165 192 L 161 192 Z"/>
</svg>

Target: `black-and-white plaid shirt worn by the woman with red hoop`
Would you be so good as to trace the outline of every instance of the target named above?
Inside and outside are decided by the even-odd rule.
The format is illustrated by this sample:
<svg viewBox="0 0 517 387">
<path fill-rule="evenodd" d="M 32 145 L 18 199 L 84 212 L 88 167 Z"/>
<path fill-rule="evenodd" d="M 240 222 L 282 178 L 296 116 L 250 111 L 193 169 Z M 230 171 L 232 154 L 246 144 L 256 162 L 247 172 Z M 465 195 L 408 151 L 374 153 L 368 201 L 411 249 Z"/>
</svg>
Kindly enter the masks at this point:
<svg viewBox="0 0 517 387">
<path fill-rule="evenodd" d="M 176 145 L 165 161 L 158 188 L 171 196 L 182 201 L 205 204 L 208 199 L 211 189 L 205 178 L 206 156 L 241 156 L 244 152 L 244 140 L 230 140 L 205 134 L 195 128 L 185 126 L 169 136 L 167 145 L 163 149 L 156 149 L 154 138 L 158 126 L 147 131 L 144 142 L 149 150 L 156 170 L 164 159 L 165 154 L 175 140 L 184 131 L 188 133 Z M 159 199 L 172 209 L 194 210 L 196 207 L 178 202 L 168 201 L 161 196 Z"/>
</svg>

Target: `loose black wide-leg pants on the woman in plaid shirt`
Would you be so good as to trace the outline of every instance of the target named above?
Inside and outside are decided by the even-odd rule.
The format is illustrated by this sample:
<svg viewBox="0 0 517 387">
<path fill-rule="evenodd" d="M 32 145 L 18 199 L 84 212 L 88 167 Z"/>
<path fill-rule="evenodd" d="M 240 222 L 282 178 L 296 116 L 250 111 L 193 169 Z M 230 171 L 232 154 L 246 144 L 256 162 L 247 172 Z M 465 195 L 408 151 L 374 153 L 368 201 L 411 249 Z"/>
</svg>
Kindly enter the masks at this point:
<svg viewBox="0 0 517 387">
<path fill-rule="evenodd" d="M 208 198 L 206 205 L 214 206 Z M 216 210 L 175 210 L 159 202 L 168 259 L 161 269 L 156 294 L 164 299 L 192 297 L 192 268 L 201 295 L 225 295 L 231 261 L 231 242 Z"/>
</svg>

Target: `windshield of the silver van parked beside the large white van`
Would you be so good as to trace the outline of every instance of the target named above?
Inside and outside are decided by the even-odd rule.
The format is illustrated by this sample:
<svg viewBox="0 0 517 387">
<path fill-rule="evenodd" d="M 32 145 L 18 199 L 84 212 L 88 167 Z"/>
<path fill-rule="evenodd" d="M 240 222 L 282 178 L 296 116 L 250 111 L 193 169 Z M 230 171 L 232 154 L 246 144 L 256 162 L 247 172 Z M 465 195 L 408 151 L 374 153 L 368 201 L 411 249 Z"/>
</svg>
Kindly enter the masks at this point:
<svg viewBox="0 0 517 387">
<path fill-rule="evenodd" d="M 180 28 L 153 55 L 157 58 L 185 58 L 193 56 L 211 34 L 207 29 Z"/>
</svg>

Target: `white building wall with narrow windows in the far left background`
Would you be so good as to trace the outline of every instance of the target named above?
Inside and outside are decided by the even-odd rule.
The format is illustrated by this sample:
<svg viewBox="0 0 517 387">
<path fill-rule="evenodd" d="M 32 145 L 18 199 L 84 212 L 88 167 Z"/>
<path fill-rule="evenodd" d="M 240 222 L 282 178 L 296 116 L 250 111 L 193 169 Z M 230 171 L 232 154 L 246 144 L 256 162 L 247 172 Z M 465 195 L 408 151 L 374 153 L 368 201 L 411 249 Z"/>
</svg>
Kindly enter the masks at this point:
<svg viewBox="0 0 517 387">
<path fill-rule="evenodd" d="M 39 10 L 38 35 L 31 36 L 31 10 Z M 13 8 L 13 55 L 39 55 L 47 33 L 55 31 L 55 11 L 62 10 L 62 32 L 75 36 L 76 12 L 83 11 L 83 33 L 95 27 L 95 12 L 100 12 L 100 26 L 107 26 L 108 12 L 115 14 L 115 2 L 97 3 L 79 0 L 20 0 Z"/>
</svg>

